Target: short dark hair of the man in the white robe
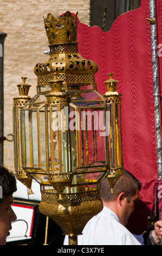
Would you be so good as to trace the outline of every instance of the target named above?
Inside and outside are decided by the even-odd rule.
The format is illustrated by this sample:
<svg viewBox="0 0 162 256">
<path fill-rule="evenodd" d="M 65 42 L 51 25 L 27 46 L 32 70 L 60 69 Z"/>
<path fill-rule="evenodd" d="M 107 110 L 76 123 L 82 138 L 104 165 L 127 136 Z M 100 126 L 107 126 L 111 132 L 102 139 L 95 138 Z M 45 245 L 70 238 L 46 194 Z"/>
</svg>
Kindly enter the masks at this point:
<svg viewBox="0 0 162 256">
<path fill-rule="evenodd" d="M 123 170 L 123 174 L 119 177 L 113 187 L 113 194 L 111 194 L 111 187 L 109 185 L 108 179 L 103 178 L 100 182 L 100 196 L 105 202 L 110 202 L 115 200 L 121 192 L 125 193 L 127 202 L 131 197 L 135 196 L 137 190 L 141 190 L 141 182 L 134 177 L 133 174 L 129 173 L 127 170 Z"/>
</svg>

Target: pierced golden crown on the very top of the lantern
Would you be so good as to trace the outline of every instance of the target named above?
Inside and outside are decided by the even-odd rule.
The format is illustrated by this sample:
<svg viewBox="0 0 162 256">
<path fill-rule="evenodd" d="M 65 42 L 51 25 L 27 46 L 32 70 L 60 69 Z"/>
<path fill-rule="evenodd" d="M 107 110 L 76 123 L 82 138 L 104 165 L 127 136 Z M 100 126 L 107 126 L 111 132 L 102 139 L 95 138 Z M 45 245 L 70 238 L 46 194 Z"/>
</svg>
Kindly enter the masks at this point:
<svg viewBox="0 0 162 256">
<path fill-rule="evenodd" d="M 56 17 L 49 13 L 44 25 L 49 46 L 76 43 L 77 13 L 75 17 L 69 11 Z"/>
</svg>

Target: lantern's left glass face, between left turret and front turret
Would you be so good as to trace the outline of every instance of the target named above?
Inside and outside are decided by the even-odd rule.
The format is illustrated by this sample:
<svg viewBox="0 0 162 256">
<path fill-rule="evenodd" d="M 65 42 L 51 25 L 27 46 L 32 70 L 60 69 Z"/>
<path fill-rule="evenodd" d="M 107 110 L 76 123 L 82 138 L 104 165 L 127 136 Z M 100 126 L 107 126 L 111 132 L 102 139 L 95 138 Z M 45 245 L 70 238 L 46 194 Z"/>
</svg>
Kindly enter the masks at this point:
<svg viewBox="0 0 162 256">
<path fill-rule="evenodd" d="M 47 184 L 46 127 L 44 95 L 35 95 L 21 109 L 21 141 L 23 169 L 40 184 Z"/>
</svg>

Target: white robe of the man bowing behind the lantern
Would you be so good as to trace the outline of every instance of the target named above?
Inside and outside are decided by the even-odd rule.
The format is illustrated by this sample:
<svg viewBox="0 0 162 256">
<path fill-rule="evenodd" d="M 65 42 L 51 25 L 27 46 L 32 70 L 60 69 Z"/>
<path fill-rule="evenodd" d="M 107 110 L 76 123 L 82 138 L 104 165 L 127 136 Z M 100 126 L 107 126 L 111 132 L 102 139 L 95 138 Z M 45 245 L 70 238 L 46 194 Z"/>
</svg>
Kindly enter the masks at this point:
<svg viewBox="0 0 162 256">
<path fill-rule="evenodd" d="M 94 216 L 77 236 L 78 245 L 141 245 L 141 243 L 124 227 L 113 211 L 103 206 L 102 211 Z M 64 245 L 68 245 L 68 235 Z"/>
</svg>

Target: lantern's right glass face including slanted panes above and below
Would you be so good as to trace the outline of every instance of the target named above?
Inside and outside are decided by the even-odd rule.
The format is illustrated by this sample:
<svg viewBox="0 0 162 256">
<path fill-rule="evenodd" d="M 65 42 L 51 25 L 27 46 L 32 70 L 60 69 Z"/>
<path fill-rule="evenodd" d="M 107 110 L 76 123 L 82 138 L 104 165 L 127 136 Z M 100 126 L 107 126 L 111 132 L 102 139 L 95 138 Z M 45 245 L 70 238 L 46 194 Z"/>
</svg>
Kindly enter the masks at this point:
<svg viewBox="0 0 162 256">
<path fill-rule="evenodd" d="M 91 186 L 95 186 L 105 175 L 109 164 L 106 102 L 95 91 L 77 93 L 75 99 L 73 95 L 74 93 L 71 94 L 69 129 L 76 138 L 76 169 L 72 184 L 79 186 L 90 182 Z M 79 100 L 80 96 L 82 100 Z M 78 176 L 80 173 L 83 179 Z"/>
</svg>

